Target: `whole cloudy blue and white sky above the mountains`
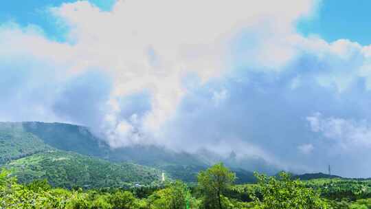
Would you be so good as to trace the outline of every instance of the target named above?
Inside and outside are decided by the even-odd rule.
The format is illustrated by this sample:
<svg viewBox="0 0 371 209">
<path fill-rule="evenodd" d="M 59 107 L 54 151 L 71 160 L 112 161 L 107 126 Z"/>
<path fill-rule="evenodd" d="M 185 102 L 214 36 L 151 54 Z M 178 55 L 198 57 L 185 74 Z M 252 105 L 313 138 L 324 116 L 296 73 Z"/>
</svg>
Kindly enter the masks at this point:
<svg viewBox="0 0 371 209">
<path fill-rule="evenodd" d="M 371 177 L 371 2 L 7 1 L 0 121 Z"/>
</svg>

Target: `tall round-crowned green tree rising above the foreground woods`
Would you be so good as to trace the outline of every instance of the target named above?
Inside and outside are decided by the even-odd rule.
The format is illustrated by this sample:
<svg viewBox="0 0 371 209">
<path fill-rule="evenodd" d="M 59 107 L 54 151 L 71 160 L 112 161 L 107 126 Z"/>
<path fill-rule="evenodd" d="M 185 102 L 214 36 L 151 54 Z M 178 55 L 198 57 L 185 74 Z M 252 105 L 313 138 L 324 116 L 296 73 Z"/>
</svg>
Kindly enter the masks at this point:
<svg viewBox="0 0 371 209">
<path fill-rule="evenodd" d="M 222 195 L 236 180 L 236 174 L 223 163 L 215 164 L 197 176 L 199 188 L 203 192 L 207 208 L 222 208 Z"/>
</svg>

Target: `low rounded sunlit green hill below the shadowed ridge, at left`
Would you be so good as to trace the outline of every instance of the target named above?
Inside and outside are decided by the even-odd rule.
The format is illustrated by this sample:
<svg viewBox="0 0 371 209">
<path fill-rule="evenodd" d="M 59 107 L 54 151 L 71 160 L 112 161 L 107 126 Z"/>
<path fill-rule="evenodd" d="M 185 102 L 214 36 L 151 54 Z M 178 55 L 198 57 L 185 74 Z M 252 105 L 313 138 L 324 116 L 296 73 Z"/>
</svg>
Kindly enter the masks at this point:
<svg viewBox="0 0 371 209">
<path fill-rule="evenodd" d="M 104 188 L 128 186 L 128 183 L 150 184 L 159 181 L 161 172 L 136 164 L 113 164 L 103 159 L 73 152 L 47 151 L 5 165 L 21 183 L 47 179 L 52 186 Z"/>
</svg>

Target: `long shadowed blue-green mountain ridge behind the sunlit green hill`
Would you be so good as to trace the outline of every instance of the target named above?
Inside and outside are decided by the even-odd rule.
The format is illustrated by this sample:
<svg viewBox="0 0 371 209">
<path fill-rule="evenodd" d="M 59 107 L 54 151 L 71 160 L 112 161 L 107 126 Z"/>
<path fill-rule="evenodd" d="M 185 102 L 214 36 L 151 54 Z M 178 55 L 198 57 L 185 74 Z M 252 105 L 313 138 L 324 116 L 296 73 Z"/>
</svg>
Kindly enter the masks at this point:
<svg viewBox="0 0 371 209">
<path fill-rule="evenodd" d="M 164 170 L 173 179 L 181 179 L 188 182 L 196 181 L 196 174 L 200 170 L 204 170 L 217 162 L 225 162 L 226 166 L 233 168 L 232 170 L 237 173 L 240 183 L 254 181 L 254 176 L 247 170 L 258 170 L 256 169 L 258 166 L 250 166 L 254 165 L 255 159 L 252 161 L 251 159 L 250 161 L 243 159 L 242 162 L 239 162 L 233 155 L 232 157 L 223 157 L 207 150 L 191 154 L 171 151 L 160 146 L 140 145 L 113 149 L 104 140 L 95 137 L 87 127 L 74 124 L 46 122 L 5 124 L 21 127 L 23 134 L 36 136 L 41 142 L 46 144 L 43 146 L 98 157 L 113 163 L 132 162 L 151 166 Z M 46 150 L 49 149 L 46 148 Z M 258 162 L 258 164 L 262 165 L 262 162 Z"/>
</svg>

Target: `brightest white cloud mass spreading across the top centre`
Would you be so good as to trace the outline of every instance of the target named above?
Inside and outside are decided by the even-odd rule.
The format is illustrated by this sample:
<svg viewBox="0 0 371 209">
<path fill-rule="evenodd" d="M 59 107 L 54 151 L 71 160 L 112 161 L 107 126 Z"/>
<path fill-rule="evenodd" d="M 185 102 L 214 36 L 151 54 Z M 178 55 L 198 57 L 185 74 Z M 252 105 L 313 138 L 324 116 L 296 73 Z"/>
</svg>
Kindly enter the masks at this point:
<svg viewBox="0 0 371 209">
<path fill-rule="evenodd" d="M 52 14 L 71 28 L 68 43 L 48 41 L 32 27 L 5 25 L 0 54 L 58 65 L 62 70 L 56 76 L 65 79 L 89 69 L 104 70 L 114 83 L 107 102 L 111 110 L 104 118 L 120 113 L 115 100 L 149 90 L 152 109 L 143 116 L 141 129 L 157 134 L 186 94 L 183 77 L 192 73 L 205 82 L 221 76 L 230 68 L 229 44 L 241 30 L 253 27 L 277 34 L 260 46 L 256 56 L 260 64 L 289 61 L 295 54 L 289 41 L 293 22 L 311 14 L 313 4 L 311 0 L 129 0 L 117 1 L 112 11 L 103 12 L 88 1 L 64 3 L 52 8 Z M 114 130 L 127 120 L 102 126 L 111 124 Z"/>
</svg>

